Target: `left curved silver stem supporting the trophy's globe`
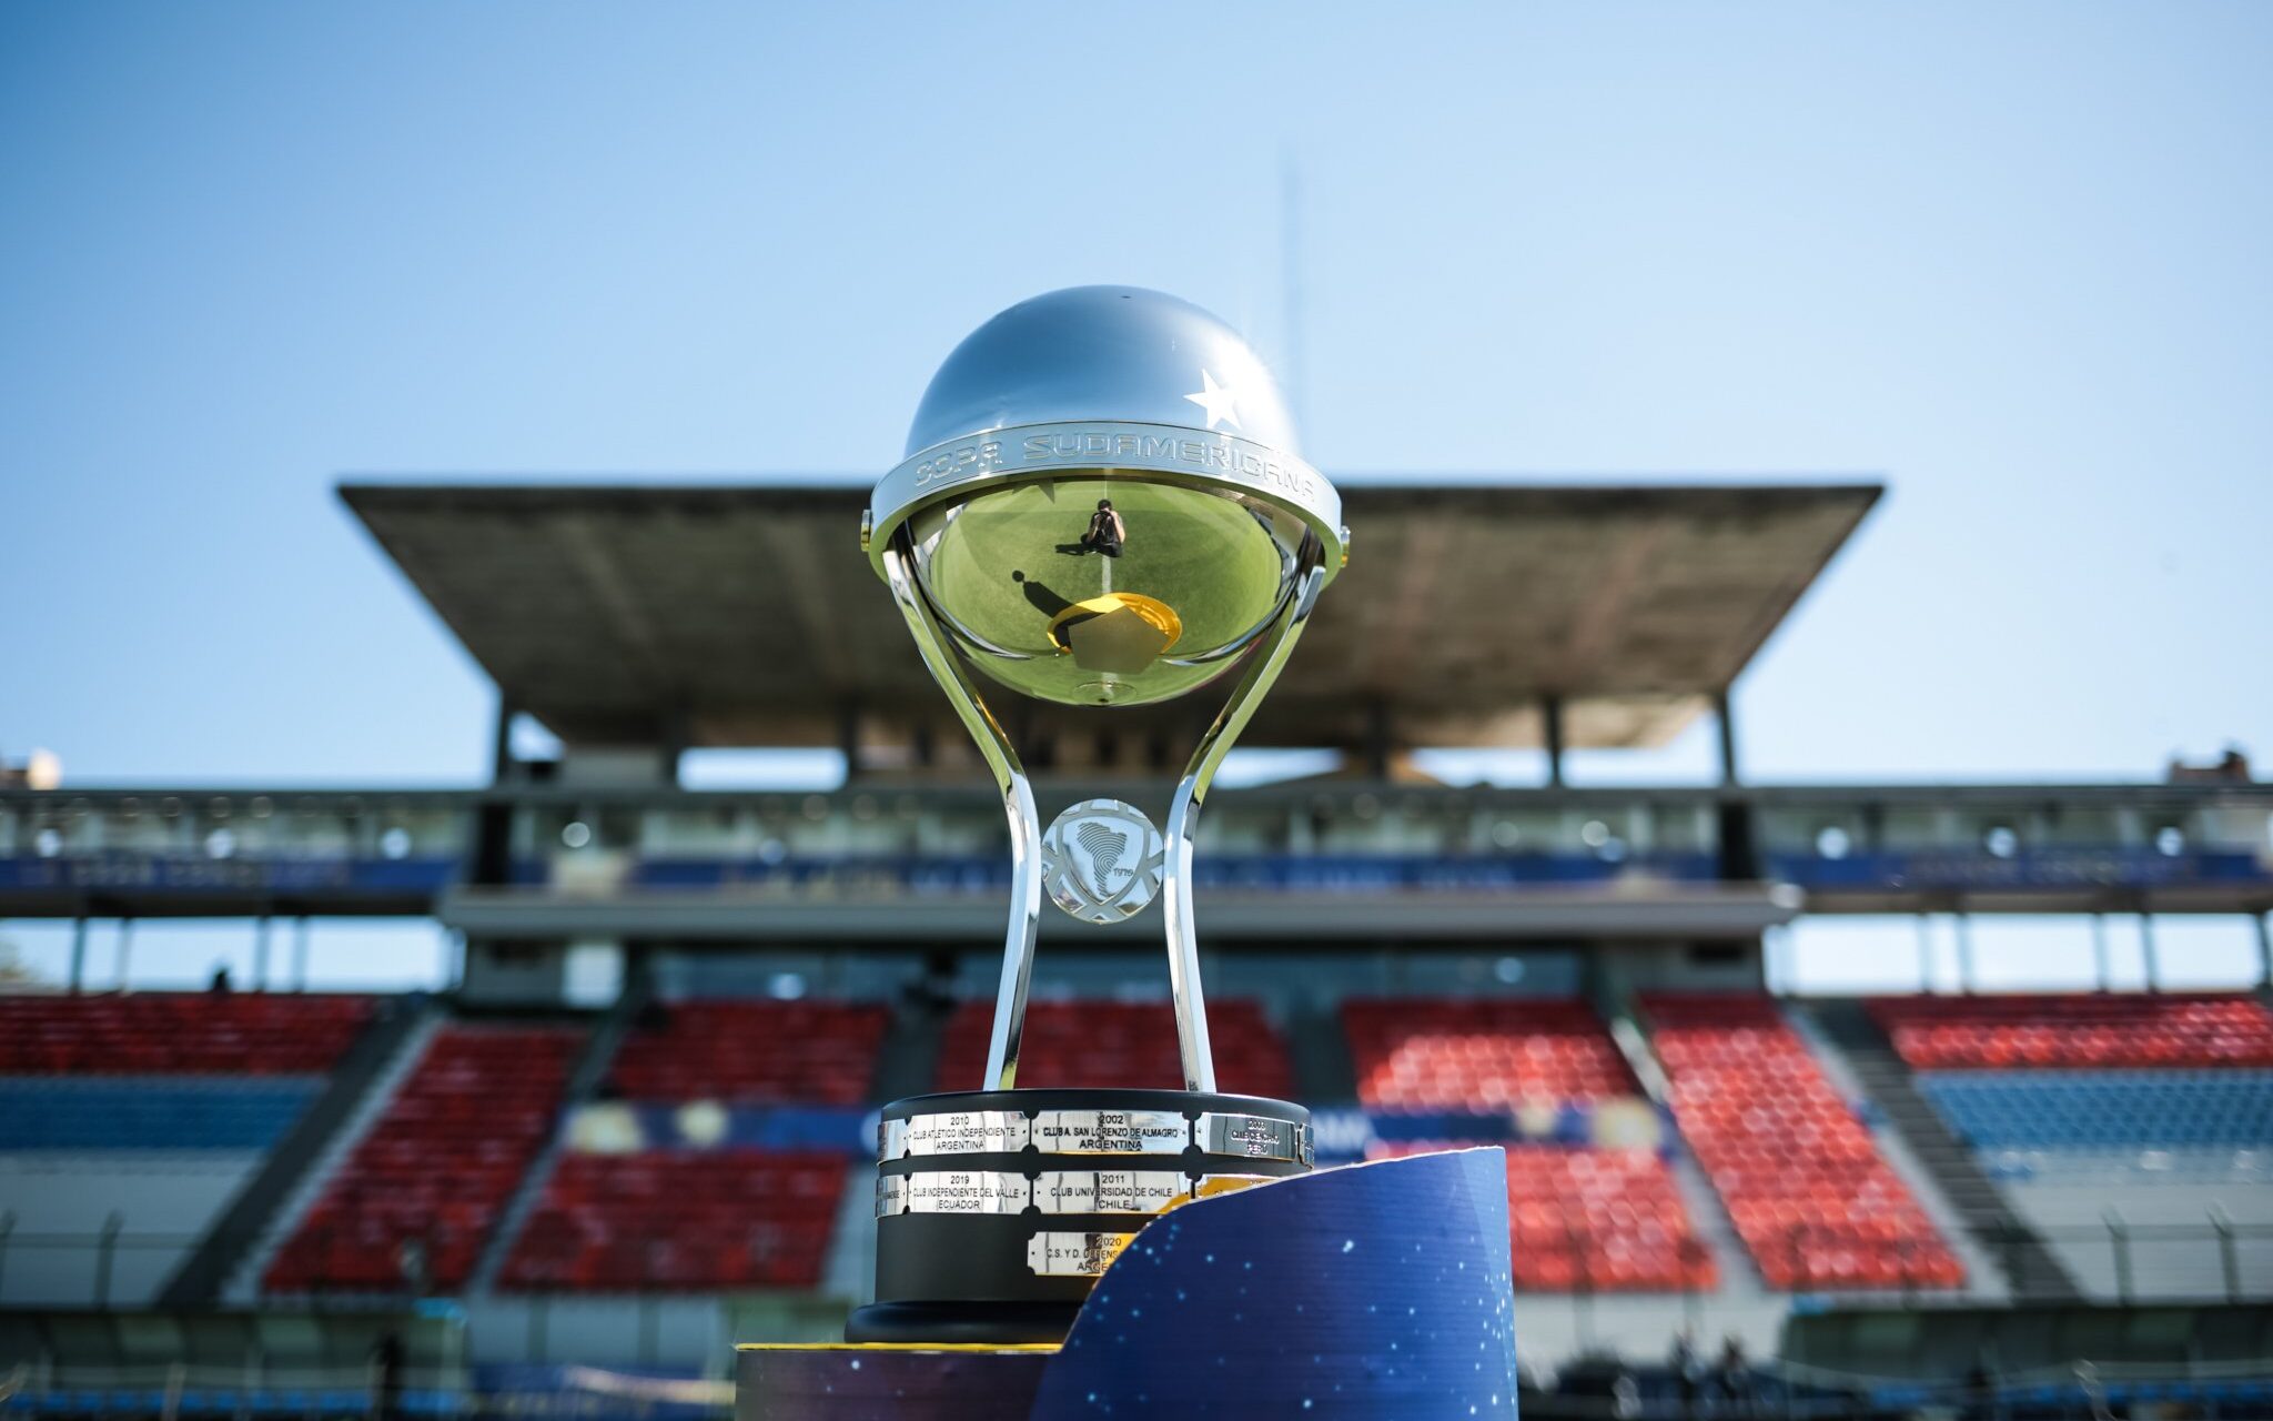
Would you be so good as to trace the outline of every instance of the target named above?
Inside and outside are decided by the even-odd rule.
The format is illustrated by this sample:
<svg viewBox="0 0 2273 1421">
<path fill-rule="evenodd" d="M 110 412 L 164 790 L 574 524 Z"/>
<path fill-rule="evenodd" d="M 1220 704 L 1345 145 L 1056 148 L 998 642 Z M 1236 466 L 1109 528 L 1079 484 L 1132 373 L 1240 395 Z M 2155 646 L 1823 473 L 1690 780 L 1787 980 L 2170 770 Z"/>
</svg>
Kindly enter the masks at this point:
<svg viewBox="0 0 2273 1421">
<path fill-rule="evenodd" d="M 971 682 L 971 673 L 948 650 L 948 641 L 939 632 L 939 616 L 909 571 L 911 555 L 905 539 L 902 530 L 884 548 L 884 580 L 891 582 L 891 598 L 900 605 L 900 616 L 907 618 L 907 630 L 916 637 L 923 664 L 932 671 L 939 689 L 948 693 L 964 730 L 971 732 L 986 768 L 993 771 L 996 789 L 1002 791 L 1002 812 L 1009 818 L 1009 930 L 1002 937 L 1002 984 L 996 989 L 993 1034 L 986 1039 L 986 1085 L 980 1087 L 1007 1091 L 1018 1085 L 1025 991 L 1034 980 L 1034 934 L 1041 930 L 1041 825 L 1034 814 L 1034 787 L 1027 782 L 1025 766 L 1018 764 L 1018 750 L 1011 748 L 1002 723 L 993 718 Z"/>
</svg>

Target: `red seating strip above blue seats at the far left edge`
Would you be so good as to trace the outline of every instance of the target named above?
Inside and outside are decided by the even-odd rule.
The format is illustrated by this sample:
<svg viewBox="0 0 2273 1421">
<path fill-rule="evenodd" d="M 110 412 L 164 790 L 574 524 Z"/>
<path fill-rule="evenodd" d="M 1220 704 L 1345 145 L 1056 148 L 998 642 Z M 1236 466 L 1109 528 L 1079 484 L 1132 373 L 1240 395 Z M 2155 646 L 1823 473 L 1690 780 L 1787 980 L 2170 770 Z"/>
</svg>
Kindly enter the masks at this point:
<svg viewBox="0 0 2273 1421">
<path fill-rule="evenodd" d="M 0 1075 L 320 1075 L 370 1012 L 268 991 L 0 996 Z"/>
</svg>

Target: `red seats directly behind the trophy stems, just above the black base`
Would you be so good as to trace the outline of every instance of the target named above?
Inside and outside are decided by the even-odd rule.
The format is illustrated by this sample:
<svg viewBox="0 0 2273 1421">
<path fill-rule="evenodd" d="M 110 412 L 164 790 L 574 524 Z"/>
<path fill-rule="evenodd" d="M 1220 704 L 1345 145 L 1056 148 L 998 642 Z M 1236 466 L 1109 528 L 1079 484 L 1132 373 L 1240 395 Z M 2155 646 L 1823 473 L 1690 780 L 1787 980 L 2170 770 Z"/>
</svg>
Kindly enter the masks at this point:
<svg viewBox="0 0 2273 1421">
<path fill-rule="evenodd" d="M 991 1030 L 993 1003 L 964 1003 L 955 1012 L 939 1048 L 939 1089 L 980 1089 Z M 1259 1005 L 1207 1003 L 1207 1037 L 1218 1089 L 1280 1100 L 1293 1094 L 1287 1046 Z M 1168 1003 L 1030 1003 L 1018 1085 L 1182 1089 L 1175 1012 Z"/>
</svg>

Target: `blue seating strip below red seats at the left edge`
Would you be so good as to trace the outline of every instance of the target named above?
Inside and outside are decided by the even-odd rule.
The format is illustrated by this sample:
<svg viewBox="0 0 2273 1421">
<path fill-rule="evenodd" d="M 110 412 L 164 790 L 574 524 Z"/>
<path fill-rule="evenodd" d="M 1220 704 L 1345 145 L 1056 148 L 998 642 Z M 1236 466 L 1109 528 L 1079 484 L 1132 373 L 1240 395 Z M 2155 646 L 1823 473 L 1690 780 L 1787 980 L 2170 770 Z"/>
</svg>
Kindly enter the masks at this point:
<svg viewBox="0 0 2273 1421">
<path fill-rule="evenodd" d="M 318 1080 L 0 1080 L 0 1150 L 266 1150 Z"/>
</svg>

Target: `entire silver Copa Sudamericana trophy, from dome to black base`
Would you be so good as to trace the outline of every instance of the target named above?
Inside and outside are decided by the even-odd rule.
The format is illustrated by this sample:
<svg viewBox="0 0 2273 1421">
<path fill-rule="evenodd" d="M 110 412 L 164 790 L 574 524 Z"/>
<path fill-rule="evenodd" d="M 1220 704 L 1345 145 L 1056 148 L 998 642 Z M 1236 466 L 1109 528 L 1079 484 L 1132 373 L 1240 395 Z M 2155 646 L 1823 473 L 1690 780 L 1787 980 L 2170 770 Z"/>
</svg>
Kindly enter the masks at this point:
<svg viewBox="0 0 2273 1421">
<path fill-rule="evenodd" d="M 1287 664 L 1348 530 L 1271 371 L 1207 311 L 1127 286 L 1021 302 L 948 355 L 861 525 L 1009 816 L 1011 905 L 986 1078 L 882 1112 L 875 1303 L 848 1341 L 1057 1341 L 1164 1210 L 1307 1173 L 1309 1112 L 1216 1091 L 1191 912 L 1223 755 Z M 1232 673 L 1237 671 L 1237 678 Z M 989 696 L 1098 716 L 1232 678 L 1166 832 L 1084 800 L 1043 832 Z M 1089 923 L 1162 900 L 1184 1089 L 1025 1089 L 1043 898 Z"/>
</svg>

